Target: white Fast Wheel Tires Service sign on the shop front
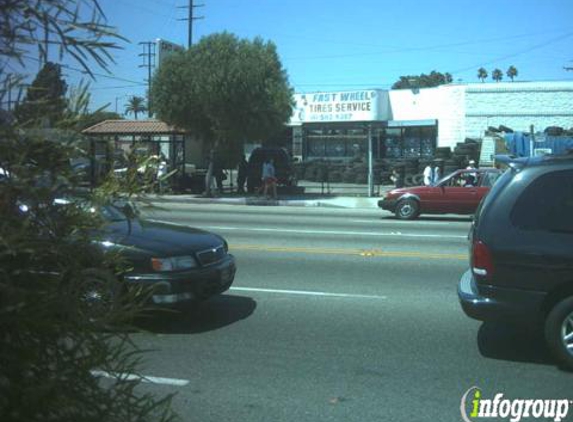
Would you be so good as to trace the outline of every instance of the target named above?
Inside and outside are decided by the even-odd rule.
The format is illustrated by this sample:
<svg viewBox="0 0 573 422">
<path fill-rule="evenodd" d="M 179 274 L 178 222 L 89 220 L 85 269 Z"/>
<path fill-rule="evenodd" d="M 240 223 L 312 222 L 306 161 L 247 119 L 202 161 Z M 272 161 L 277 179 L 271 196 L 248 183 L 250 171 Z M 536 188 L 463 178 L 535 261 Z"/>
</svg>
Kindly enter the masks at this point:
<svg viewBox="0 0 573 422">
<path fill-rule="evenodd" d="M 362 90 L 295 94 L 291 124 L 388 120 L 388 92 Z"/>
</svg>

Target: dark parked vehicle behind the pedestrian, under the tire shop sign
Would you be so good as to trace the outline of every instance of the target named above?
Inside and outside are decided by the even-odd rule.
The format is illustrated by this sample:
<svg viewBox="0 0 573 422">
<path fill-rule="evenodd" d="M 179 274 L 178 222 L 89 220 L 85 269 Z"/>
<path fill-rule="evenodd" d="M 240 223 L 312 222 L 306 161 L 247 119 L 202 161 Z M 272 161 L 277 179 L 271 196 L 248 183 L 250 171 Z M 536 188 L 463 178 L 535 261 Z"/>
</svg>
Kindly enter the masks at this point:
<svg viewBox="0 0 573 422">
<path fill-rule="evenodd" d="M 253 193 L 262 185 L 263 163 L 269 158 L 274 160 L 278 186 L 296 186 L 292 160 L 284 148 L 255 148 L 249 157 L 247 170 L 247 191 Z"/>
</svg>

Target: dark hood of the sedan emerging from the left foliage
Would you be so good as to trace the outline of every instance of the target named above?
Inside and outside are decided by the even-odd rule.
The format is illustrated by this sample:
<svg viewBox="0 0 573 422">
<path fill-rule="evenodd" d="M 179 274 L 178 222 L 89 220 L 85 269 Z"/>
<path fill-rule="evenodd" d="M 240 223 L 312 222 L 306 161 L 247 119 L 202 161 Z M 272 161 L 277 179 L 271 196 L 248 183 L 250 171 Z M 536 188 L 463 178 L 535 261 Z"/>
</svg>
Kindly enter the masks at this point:
<svg viewBox="0 0 573 422">
<path fill-rule="evenodd" d="M 98 237 L 100 242 L 136 248 L 155 257 L 187 255 L 224 243 L 220 236 L 204 230 L 138 219 L 131 224 L 110 223 Z"/>
</svg>

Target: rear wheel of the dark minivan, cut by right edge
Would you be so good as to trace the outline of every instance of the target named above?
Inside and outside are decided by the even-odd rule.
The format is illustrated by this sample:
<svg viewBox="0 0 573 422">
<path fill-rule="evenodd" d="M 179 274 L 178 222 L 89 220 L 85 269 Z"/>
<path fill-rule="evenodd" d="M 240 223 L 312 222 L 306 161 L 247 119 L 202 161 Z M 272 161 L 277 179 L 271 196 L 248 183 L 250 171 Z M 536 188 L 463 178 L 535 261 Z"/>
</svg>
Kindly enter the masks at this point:
<svg viewBox="0 0 573 422">
<path fill-rule="evenodd" d="M 549 312 L 545 339 L 559 362 L 573 370 L 573 297 L 559 302 Z"/>
</svg>

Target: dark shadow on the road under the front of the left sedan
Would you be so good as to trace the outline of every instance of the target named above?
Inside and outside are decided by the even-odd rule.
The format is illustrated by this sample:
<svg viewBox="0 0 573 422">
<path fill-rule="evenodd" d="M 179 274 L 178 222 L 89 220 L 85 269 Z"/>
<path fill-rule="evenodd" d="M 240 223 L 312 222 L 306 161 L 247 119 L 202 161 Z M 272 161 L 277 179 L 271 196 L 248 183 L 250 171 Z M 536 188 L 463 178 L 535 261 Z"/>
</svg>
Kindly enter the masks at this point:
<svg viewBox="0 0 573 422">
<path fill-rule="evenodd" d="M 248 318 L 257 307 L 250 297 L 220 295 L 188 309 L 159 310 L 142 316 L 137 327 L 157 334 L 196 334 L 213 331 Z"/>
</svg>

